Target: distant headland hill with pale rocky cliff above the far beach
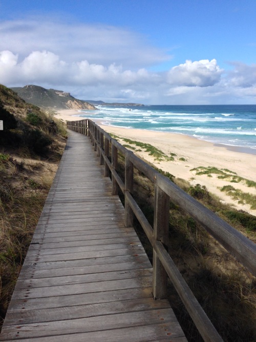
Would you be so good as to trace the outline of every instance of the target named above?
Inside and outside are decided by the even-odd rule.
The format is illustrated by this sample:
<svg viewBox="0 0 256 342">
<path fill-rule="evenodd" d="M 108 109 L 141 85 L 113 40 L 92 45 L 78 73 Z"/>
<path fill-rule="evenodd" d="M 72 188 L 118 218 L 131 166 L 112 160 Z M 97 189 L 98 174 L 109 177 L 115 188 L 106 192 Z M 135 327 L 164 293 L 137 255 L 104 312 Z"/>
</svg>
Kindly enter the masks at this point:
<svg viewBox="0 0 256 342">
<path fill-rule="evenodd" d="M 26 102 L 42 108 L 53 109 L 96 109 L 94 105 L 79 100 L 70 93 L 55 89 L 45 89 L 39 86 L 27 85 L 25 87 L 11 88 Z"/>
</svg>

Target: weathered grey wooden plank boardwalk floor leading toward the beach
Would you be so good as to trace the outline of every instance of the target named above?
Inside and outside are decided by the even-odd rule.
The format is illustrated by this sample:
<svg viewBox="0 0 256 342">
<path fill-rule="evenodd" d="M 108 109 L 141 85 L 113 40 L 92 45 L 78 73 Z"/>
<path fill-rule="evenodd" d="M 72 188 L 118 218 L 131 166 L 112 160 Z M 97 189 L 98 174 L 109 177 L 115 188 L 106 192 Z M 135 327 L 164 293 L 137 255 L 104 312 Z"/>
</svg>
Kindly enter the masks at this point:
<svg viewBox="0 0 256 342">
<path fill-rule="evenodd" d="M 70 131 L 0 340 L 186 341 L 87 136 Z"/>
</svg>

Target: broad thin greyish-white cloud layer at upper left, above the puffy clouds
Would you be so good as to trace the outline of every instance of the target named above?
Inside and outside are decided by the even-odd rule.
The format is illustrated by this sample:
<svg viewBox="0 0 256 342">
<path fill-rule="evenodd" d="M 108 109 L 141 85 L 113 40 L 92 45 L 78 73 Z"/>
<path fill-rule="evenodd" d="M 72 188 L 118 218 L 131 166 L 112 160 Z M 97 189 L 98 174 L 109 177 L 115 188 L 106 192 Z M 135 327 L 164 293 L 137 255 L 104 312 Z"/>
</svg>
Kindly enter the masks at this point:
<svg viewBox="0 0 256 342">
<path fill-rule="evenodd" d="M 145 37 L 128 29 L 67 23 L 58 18 L 35 17 L 0 23 L 0 51 L 10 50 L 25 58 L 32 51 L 51 51 L 66 62 L 121 64 L 141 68 L 170 59 Z"/>
</svg>

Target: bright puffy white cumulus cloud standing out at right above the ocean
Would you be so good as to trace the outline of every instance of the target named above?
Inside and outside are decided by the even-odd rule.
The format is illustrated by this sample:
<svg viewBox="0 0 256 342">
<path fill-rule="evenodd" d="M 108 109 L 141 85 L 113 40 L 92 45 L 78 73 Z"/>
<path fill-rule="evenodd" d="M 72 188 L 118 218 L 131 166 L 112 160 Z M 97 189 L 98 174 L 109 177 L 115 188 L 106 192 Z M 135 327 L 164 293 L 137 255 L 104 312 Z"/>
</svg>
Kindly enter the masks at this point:
<svg viewBox="0 0 256 342">
<path fill-rule="evenodd" d="M 223 70 L 217 65 L 216 59 L 209 61 L 186 61 L 170 69 L 167 82 L 171 85 L 187 87 L 209 87 L 220 81 Z"/>
</svg>

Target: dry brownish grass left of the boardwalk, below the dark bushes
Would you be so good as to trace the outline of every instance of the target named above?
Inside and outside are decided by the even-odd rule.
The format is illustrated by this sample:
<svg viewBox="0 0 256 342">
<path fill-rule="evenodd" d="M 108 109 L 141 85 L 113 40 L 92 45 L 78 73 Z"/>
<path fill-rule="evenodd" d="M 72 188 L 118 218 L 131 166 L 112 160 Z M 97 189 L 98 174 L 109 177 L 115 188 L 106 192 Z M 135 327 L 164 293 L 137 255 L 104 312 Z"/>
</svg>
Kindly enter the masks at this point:
<svg viewBox="0 0 256 342">
<path fill-rule="evenodd" d="M 57 165 L 0 154 L 0 327 Z"/>
</svg>

